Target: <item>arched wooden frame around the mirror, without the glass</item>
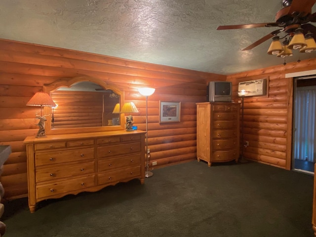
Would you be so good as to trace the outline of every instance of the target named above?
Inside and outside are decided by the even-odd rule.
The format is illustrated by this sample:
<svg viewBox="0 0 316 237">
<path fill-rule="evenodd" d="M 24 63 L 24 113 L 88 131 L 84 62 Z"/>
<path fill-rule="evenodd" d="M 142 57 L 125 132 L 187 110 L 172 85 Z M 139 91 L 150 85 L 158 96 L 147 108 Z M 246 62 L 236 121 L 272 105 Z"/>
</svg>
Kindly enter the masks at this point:
<svg viewBox="0 0 316 237">
<path fill-rule="evenodd" d="M 107 84 L 101 79 L 89 77 L 89 76 L 80 76 L 75 77 L 72 79 L 67 80 L 57 80 L 51 84 L 47 84 L 43 86 L 44 92 L 50 94 L 57 90 L 60 87 L 71 87 L 73 84 L 78 82 L 90 81 L 92 83 L 98 84 L 102 86 L 104 89 L 110 89 L 114 93 L 120 96 L 120 108 L 124 104 L 124 92 L 119 90 L 117 86 L 113 84 Z M 43 108 L 44 115 L 49 115 L 46 117 L 45 122 L 45 132 L 47 135 L 55 135 L 55 134 L 68 134 L 68 133 L 85 133 L 85 132 L 102 132 L 102 131 L 116 131 L 125 129 L 125 121 L 124 121 L 124 114 L 120 114 L 119 116 L 119 125 L 112 125 L 112 126 L 98 126 L 98 127 L 76 127 L 76 128 L 52 128 L 51 126 L 51 108 L 44 107 Z"/>
</svg>

